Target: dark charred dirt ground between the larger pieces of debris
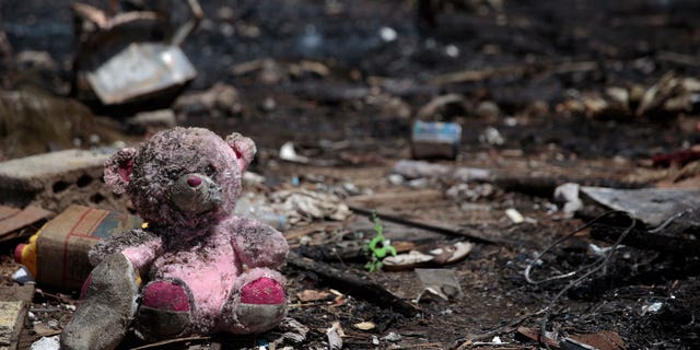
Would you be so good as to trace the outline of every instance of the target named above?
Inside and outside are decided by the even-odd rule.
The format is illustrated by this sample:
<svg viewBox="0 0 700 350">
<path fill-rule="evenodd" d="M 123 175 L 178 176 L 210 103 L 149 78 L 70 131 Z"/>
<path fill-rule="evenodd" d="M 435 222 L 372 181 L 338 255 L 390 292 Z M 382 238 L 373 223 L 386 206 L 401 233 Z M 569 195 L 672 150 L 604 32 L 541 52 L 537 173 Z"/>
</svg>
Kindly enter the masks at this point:
<svg viewBox="0 0 700 350">
<path fill-rule="evenodd" d="M 346 349 L 535 349 L 544 346 L 525 334 L 536 332 L 542 320 L 547 331 L 561 338 L 594 335 L 603 341 L 593 346 L 596 349 L 700 347 L 697 252 L 623 244 L 614 249 L 605 269 L 571 285 L 575 278 L 541 284 L 524 278 L 537 253 L 603 211 L 586 202 L 573 218 L 567 217 L 555 203 L 558 185 L 700 184 L 693 180 L 697 163 L 653 166 L 657 154 L 700 143 L 700 91 L 680 83 L 668 88 L 672 80 L 700 74 L 700 3 L 447 2 L 431 12 L 421 1 L 201 0 L 206 19 L 183 46 L 198 77 L 184 95 L 226 84 L 237 91 L 238 107 L 202 107 L 180 100 L 174 105 L 178 124 L 253 138 L 259 152 L 252 171 L 265 180 L 248 190 L 259 196 L 305 188 L 349 203 L 354 214 L 343 221 L 315 219 L 287 228 L 293 253 L 374 282 L 413 311 L 401 313 L 387 300 L 364 296 L 292 261 L 283 269 L 289 316 L 310 331 L 299 343 L 285 340 L 277 347 L 329 348 L 327 331 L 338 322 Z M 0 57 L 3 91 L 33 86 L 70 100 L 69 4 L 0 2 L 0 30 L 13 51 L 5 60 Z M 49 61 L 21 55 L 28 51 L 47 52 Z M 626 97 L 616 100 L 620 94 L 610 88 L 625 91 Z M 662 102 L 644 100 L 652 90 Z M 450 94 L 451 102 L 440 102 Z M 681 107 L 666 103 L 676 97 L 686 98 Z M 47 125 L 60 121 L 45 117 Z M 129 131 L 127 117 L 113 113 L 88 118 L 118 131 L 103 136 L 106 143 Z M 396 163 L 411 158 L 417 118 L 462 126 L 456 159 L 434 164 L 494 175 L 397 176 Z M 21 131 L 5 129 L 0 128 L 5 139 Z M 72 135 L 78 131 L 66 130 L 67 139 L 83 137 Z M 139 138 L 142 135 L 130 133 L 122 140 Z M 44 141 L 44 151 L 58 144 Z M 288 141 L 311 161 L 281 160 L 279 149 Z M 7 148 L 0 160 L 27 153 L 21 147 Z M 509 209 L 524 221 L 510 219 Z M 443 300 L 425 292 L 413 270 L 370 273 L 361 254 L 346 259 L 328 254 L 371 238 L 371 211 L 380 214 L 385 235 L 397 245 L 474 242 L 465 259 L 433 266 L 454 271 L 462 293 Z M 605 224 L 625 228 L 629 221 L 615 217 Z M 599 261 L 591 244 L 611 243 L 594 238 L 593 231 L 558 245 L 534 273 L 544 278 Z M 695 234 L 687 231 L 684 237 L 692 241 Z M 18 242 L 2 244 L 2 285 L 13 283 L 10 276 L 18 265 L 11 252 Z M 303 293 L 308 290 L 324 296 L 308 298 Z M 21 348 L 40 338 L 37 324 L 55 320 L 54 329 L 60 329 L 70 317 L 65 305 L 74 298 L 67 291 L 37 293 Z M 538 313 L 550 303 L 546 313 Z M 358 326 L 364 322 L 372 323 L 372 329 Z M 258 349 L 282 332 L 162 347 Z M 127 339 L 122 348 L 138 346 L 142 343 Z M 571 342 L 562 348 L 588 349 Z"/>
</svg>

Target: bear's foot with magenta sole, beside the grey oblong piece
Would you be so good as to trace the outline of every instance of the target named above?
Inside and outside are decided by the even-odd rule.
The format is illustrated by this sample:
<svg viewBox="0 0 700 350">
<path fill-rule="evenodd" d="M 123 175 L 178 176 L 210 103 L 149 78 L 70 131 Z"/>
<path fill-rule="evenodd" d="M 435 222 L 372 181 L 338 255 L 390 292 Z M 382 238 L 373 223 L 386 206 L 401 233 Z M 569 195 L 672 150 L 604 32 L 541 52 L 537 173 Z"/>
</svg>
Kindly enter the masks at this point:
<svg viewBox="0 0 700 350">
<path fill-rule="evenodd" d="M 177 279 L 152 281 L 141 294 L 136 317 L 136 329 L 141 338 L 158 340 L 188 330 L 192 298 L 185 282 Z"/>
</svg>

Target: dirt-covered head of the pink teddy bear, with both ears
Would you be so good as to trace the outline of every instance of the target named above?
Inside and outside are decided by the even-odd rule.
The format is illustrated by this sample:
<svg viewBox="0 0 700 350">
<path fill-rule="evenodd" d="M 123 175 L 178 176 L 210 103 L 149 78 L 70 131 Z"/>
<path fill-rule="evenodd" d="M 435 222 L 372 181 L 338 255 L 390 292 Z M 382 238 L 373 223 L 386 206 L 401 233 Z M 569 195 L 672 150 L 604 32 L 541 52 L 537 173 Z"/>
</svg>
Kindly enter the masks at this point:
<svg viewBox="0 0 700 350">
<path fill-rule="evenodd" d="M 149 224 L 202 228 L 229 217 L 253 161 L 253 140 L 202 128 L 173 128 L 105 162 L 105 183 L 127 194 Z"/>
</svg>

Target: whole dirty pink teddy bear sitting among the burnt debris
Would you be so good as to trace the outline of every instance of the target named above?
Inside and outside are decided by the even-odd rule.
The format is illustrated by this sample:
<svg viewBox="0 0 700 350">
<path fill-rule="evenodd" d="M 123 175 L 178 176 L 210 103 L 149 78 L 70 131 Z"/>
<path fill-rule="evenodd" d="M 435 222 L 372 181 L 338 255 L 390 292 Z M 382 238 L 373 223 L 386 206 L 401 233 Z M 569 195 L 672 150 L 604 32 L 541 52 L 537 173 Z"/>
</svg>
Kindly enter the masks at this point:
<svg viewBox="0 0 700 350">
<path fill-rule="evenodd" d="M 114 349 L 133 329 L 145 340 L 252 334 L 287 313 L 278 269 L 289 246 L 275 229 L 233 214 L 255 143 L 202 128 L 161 131 L 105 163 L 148 226 L 90 252 L 95 266 L 63 328 L 62 349 Z"/>
</svg>

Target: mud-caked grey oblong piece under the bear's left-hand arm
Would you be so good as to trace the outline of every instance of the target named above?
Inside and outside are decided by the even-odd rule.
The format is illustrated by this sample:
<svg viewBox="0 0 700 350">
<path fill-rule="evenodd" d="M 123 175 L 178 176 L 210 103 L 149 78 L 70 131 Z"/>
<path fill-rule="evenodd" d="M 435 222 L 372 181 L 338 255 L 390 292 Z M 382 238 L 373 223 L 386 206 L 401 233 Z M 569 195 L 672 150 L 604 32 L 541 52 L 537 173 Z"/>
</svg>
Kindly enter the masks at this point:
<svg viewBox="0 0 700 350">
<path fill-rule="evenodd" d="M 61 349 L 114 349 L 137 310 L 138 283 L 131 261 L 113 254 L 95 267 L 81 301 L 61 332 Z"/>
</svg>

